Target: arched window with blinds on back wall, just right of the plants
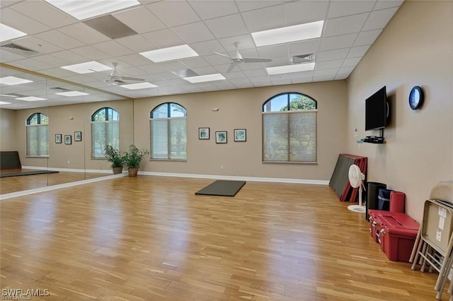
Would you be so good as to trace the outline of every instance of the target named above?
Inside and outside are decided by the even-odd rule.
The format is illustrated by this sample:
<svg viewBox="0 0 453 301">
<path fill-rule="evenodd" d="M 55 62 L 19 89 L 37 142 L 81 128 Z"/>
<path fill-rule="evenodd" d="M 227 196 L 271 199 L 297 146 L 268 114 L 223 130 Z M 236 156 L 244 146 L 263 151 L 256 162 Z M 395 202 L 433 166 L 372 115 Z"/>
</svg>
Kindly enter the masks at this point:
<svg viewBox="0 0 453 301">
<path fill-rule="evenodd" d="M 151 159 L 187 160 L 185 108 L 177 103 L 158 105 L 149 116 Z"/>
</svg>

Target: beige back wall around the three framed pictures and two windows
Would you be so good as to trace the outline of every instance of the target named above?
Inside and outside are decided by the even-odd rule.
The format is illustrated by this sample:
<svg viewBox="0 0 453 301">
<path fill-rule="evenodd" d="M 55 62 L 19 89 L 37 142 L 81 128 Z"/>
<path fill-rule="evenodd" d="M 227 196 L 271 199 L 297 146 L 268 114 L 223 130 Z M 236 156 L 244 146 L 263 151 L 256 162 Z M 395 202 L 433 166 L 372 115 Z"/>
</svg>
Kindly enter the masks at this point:
<svg viewBox="0 0 453 301">
<path fill-rule="evenodd" d="M 304 93 L 318 102 L 317 165 L 262 163 L 263 103 L 284 92 Z M 163 102 L 176 102 L 188 112 L 187 162 L 151 160 L 142 164 L 141 170 L 329 180 L 338 154 L 345 151 L 346 94 L 345 81 L 329 81 L 134 100 L 134 137 L 139 148 L 149 148 L 149 112 L 154 107 Z M 214 107 L 219 111 L 213 112 Z M 198 139 L 199 127 L 210 127 L 210 140 Z M 234 142 L 234 129 L 247 129 L 245 143 Z M 215 131 L 227 131 L 228 143 L 216 144 Z M 224 166 L 223 170 L 220 165 Z"/>
</svg>

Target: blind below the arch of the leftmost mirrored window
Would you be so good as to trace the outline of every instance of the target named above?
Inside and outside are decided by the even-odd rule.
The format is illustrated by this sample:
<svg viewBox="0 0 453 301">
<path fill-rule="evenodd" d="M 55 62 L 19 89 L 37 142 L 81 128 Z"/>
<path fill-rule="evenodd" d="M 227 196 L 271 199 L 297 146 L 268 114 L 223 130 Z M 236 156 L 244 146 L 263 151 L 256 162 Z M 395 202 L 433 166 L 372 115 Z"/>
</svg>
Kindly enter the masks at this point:
<svg viewBox="0 0 453 301">
<path fill-rule="evenodd" d="M 26 126 L 27 146 L 25 155 L 47 156 L 49 155 L 49 143 L 47 139 L 47 124 L 33 124 Z"/>
</svg>

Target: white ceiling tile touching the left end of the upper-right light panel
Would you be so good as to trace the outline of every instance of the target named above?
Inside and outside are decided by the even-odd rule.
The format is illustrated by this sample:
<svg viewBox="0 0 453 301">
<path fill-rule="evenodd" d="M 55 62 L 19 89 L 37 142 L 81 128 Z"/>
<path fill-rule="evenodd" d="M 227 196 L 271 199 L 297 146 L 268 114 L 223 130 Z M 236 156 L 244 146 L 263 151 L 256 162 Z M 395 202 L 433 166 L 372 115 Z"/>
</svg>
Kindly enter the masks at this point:
<svg viewBox="0 0 453 301">
<path fill-rule="evenodd" d="M 217 38 L 231 37 L 233 35 L 243 35 L 248 33 L 246 25 L 243 23 L 239 13 L 231 16 L 205 20 L 205 23 Z"/>
</svg>

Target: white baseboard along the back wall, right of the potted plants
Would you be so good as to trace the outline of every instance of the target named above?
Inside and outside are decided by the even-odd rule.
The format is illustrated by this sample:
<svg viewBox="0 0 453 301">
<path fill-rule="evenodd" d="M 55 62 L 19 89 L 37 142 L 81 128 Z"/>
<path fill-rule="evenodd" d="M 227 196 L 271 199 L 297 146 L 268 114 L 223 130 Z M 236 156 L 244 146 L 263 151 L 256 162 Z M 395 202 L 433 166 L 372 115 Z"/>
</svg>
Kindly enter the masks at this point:
<svg viewBox="0 0 453 301">
<path fill-rule="evenodd" d="M 287 179 L 278 177 L 239 177 L 239 176 L 226 176 L 226 175 L 199 175 L 199 174 L 182 174 L 173 172 L 142 172 L 139 175 L 154 175 L 160 177 L 191 177 L 198 179 L 231 179 L 236 181 L 251 181 L 251 182 L 276 182 L 276 183 L 295 183 L 295 184 L 314 184 L 314 185 L 328 185 L 327 180 L 320 179 Z"/>
</svg>

